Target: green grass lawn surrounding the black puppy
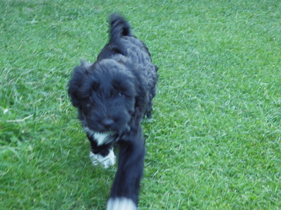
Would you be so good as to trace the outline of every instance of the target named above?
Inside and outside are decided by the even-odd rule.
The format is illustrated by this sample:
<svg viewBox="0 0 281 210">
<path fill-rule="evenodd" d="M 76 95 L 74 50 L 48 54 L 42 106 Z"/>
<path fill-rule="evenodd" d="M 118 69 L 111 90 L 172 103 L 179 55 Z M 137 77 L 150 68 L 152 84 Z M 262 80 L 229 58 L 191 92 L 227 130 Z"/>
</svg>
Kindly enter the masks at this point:
<svg viewBox="0 0 281 210">
<path fill-rule="evenodd" d="M 281 208 L 281 1 L 0 0 L 0 209 L 105 209 L 67 97 L 122 12 L 159 66 L 140 209 Z"/>
</svg>

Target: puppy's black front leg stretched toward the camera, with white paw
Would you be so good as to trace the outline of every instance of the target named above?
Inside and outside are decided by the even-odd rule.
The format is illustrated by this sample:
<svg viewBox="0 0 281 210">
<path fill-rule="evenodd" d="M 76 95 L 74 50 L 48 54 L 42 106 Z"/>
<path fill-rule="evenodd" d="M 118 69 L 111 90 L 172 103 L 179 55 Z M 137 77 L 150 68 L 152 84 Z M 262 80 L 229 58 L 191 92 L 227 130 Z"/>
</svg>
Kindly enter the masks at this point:
<svg viewBox="0 0 281 210">
<path fill-rule="evenodd" d="M 107 210 L 138 209 L 138 190 L 143 176 L 145 140 L 141 126 L 119 141 L 119 162 Z"/>
</svg>

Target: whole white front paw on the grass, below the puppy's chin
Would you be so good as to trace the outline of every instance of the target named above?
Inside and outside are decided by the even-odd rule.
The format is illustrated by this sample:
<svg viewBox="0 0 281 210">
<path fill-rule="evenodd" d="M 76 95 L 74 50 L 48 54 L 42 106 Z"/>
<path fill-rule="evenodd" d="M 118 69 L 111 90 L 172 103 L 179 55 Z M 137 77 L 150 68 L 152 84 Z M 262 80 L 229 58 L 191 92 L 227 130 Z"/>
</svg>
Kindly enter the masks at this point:
<svg viewBox="0 0 281 210">
<path fill-rule="evenodd" d="M 112 165 L 115 165 L 115 162 L 116 162 L 116 157 L 113 152 L 113 148 L 110 150 L 110 153 L 108 153 L 108 155 L 105 157 L 103 157 L 102 155 L 98 155 L 98 154 L 96 155 L 96 154 L 90 152 L 90 159 L 94 166 L 103 165 L 103 167 L 105 169 L 107 169 L 108 167 L 110 167 Z"/>
</svg>

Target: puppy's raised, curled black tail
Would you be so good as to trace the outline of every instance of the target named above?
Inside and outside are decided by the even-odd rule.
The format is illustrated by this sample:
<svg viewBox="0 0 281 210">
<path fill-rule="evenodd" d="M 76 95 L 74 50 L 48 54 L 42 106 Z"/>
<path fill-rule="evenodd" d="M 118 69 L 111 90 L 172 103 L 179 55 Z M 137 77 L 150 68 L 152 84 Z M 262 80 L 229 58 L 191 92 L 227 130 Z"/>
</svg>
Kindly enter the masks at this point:
<svg viewBox="0 0 281 210">
<path fill-rule="evenodd" d="M 122 36 L 133 36 L 129 22 L 115 13 L 110 15 L 110 26 L 110 42 L 112 43 L 118 41 Z"/>
</svg>

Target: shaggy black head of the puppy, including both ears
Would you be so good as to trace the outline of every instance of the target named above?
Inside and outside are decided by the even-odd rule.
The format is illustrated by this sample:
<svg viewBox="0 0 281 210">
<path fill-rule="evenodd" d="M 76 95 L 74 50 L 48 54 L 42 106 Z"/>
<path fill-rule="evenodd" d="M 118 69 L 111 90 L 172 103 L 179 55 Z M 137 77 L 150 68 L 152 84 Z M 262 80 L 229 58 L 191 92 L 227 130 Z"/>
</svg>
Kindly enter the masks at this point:
<svg viewBox="0 0 281 210">
<path fill-rule="evenodd" d="M 122 132 L 143 118 L 147 82 L 126 59 L 102 59 L 74 69 L 69 94 L 84 123 L 95 132 Z"/>
</svg>

